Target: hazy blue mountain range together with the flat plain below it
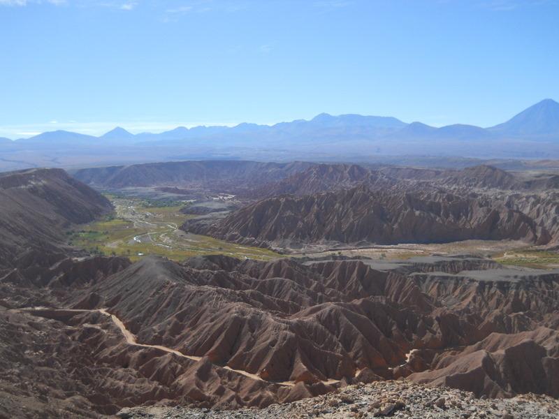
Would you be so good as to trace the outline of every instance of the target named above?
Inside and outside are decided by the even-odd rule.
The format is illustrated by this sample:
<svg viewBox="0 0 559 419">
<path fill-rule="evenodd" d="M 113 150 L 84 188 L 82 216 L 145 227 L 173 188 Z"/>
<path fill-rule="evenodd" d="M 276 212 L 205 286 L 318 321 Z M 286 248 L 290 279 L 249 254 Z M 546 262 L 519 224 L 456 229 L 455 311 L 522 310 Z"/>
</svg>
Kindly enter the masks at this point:
<svg viewBox="0 0 559 419">
<path fill-rule="evenodd" d="M 535 146 L 534 142 L 537 142 Z M 150 161 L 373 161 L 379 156 L 461 156 L 558 159 L 559 103 L 545 99 L 496 126 L 440 128 L 394 117 L 320 114 L 275 125 L 179 126 L 132 134 L 122 127 L 95 137 L 52 131 L 9 141 L 0 138 L 0 170 L 64 168 Z"/>
</svg>

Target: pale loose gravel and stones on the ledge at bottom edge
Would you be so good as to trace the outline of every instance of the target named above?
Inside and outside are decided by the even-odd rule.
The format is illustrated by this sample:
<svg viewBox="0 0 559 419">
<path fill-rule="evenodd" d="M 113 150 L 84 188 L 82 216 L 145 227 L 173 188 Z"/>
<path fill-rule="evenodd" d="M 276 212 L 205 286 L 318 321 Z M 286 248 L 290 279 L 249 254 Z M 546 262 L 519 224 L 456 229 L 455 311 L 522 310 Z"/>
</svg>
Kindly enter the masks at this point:
<svg viewBox="0 0 559 419">
<path fill-rule="evenodd" d="M 232 419 L 232 418 L 559 418 L 559 400 L 541 395 L 511 399 L 479 399 L 470 392 L 432 388 L 410 381 L 377 381 L 349 385 L 339 392 L 266 409 L 219 411 L 188 407 L 123 409 L 119 418 L 138 419 Z"/>
</svg>

